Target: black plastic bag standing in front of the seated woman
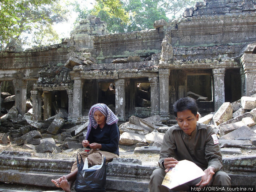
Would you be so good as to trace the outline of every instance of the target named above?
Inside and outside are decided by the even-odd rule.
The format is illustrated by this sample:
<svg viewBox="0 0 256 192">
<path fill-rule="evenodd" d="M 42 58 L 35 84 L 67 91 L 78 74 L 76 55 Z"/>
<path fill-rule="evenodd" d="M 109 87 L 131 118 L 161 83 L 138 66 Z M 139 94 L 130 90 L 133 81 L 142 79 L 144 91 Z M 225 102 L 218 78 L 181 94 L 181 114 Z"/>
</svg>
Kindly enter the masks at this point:
<svg viewBox="0 0 256 192">
<path fill-rule="evenodd" d="M 80 155 L 80 153 L 78 153 Z M 77 155 L 78 156 L 78 155 Z M 80 155 L 81 157 L 81 155 Z M 79 163 L 77 157 L 78 173 L 76 175 L 75 190 L 77 192 L 101 192 L 105 190 L 106 183 L 106 158 L 102 156 L 101 165 L 95 165 L 84 169 L 84 162 L 81 157 Z"/>
</svg>

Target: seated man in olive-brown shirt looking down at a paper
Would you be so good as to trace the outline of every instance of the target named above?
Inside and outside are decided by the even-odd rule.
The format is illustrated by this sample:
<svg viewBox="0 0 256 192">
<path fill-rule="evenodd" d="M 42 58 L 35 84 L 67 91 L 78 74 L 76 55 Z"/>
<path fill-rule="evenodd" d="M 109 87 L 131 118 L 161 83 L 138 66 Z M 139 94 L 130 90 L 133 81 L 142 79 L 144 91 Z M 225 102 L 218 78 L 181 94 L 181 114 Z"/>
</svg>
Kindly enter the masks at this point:
<svg viewBox="0 0 256 192">
<path fill-rule="evenodd" d="M 217 135 L 210 126 L 197 123 L 197 110 L 196 102 L 191 98 L 181 98 L 174 103 L 173 112 L 178 125 L 165 133 L 158 161 L 160 168 L 154 170 L 150 177 L 150 192 L 169 191 L 161 185 L 163 178 L 170 167 L 184 159 L 194 162 L 205 175 L 172 190 L 189 190 L 190 185 L 231 185 L 230 177 L 220 171 L 222 155 Z"/>
</svg>

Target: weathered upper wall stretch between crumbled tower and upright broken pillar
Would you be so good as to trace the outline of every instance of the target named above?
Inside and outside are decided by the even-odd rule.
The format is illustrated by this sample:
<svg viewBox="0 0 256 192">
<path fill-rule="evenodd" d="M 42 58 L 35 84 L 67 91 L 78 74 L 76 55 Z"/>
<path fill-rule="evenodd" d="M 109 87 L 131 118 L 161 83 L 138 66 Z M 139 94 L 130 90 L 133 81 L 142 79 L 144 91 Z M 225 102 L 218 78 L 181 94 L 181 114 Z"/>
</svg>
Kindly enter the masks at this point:
<svg viewBox="0 0 256 192">
<path fill-rule="evenodd" d="M 117 57 L 148 57 L 161 52 L 162 39 L 163 33 L 157 29 L 95 36 L 96 59 L 99 63 L 111 63 Z"/>
</svg>

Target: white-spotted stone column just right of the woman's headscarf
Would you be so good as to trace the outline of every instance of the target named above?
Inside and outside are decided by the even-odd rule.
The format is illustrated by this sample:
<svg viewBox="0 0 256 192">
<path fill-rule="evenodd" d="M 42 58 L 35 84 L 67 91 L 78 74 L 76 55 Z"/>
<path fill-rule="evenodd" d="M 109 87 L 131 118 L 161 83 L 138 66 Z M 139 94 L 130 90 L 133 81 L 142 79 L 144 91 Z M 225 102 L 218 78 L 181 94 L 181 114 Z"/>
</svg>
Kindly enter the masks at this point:
<svg viewBox="0 0 256 192">
<path fill-rule="evenodd" d="M 119 121 L 125 121 L 125 80 L 115 79 L 116 87 L 116 116 Z"/>
</svg>

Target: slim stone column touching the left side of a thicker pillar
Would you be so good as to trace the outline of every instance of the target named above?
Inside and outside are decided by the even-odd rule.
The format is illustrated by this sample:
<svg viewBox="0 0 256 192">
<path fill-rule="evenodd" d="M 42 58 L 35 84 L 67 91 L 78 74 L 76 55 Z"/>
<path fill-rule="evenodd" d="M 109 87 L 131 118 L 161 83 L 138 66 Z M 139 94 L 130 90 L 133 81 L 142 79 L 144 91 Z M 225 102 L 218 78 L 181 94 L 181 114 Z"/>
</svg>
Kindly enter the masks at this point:
<svg viewBox="0 0 256 192">
<path fill-rule="evenodd" d="M 148 78 L 150 82 L 150 101 L 151 101 L 151 116 L 159 114 L 159 80 L 158 77 Z"/>
</svg>

